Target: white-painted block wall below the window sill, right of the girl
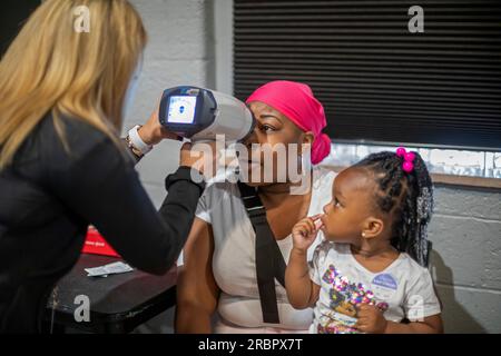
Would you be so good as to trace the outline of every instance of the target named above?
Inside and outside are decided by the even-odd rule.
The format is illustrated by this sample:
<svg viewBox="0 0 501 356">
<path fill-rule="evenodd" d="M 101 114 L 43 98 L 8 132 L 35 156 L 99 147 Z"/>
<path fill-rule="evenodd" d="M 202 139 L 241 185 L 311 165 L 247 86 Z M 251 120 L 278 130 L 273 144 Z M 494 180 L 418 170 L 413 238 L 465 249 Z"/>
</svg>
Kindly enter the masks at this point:
<svg viewBox="0 0 501 356">
<path fill-rule="evenodd" d="M 501 333 L 501 191 L 436 186 L 430 269 L 446 333 Z"/>
</svg>

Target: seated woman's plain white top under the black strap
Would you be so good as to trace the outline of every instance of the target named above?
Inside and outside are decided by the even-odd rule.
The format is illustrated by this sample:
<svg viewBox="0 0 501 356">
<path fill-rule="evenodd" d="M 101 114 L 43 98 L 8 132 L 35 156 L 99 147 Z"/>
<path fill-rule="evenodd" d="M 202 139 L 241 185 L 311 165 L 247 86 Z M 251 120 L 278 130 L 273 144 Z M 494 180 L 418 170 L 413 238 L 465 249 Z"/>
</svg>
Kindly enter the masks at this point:
<svg viewBox="0 0 501 356">
<path fill-rule="evenodd" d="M 312 198 L 307 216 L 323 212 L 332 200 L 335 172 L 315 167 L 312 179 Z M 281 324 L 263 322 L 256 283 L 255 234 L 242 204 L 238 186 L 230 182 L 213 182 L 207 186 L 198 202 L 196 216 L 212 225 L 214 233 L 213 274 L 220 288 L 219 316 L 242 327 L 274 326 L 284 329 L 306 330 L 313 320 L 313 310 L 294 309 L 286 291 L 275 280 Z M 308 249 L 308 260 L 315 247 L 323 240 L 321 231 Z M 293 247 L 292 236 L 277 241 L 288 263 Z"/>
</svg>

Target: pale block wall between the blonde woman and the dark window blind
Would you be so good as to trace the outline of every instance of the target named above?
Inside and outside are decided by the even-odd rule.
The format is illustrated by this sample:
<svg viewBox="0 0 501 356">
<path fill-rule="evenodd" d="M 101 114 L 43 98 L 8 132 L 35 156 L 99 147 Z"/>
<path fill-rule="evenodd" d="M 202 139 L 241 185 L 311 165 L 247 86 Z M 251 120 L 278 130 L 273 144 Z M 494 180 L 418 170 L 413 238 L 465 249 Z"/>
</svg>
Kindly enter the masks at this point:
<svg viewBox="0 0 501 356">
<path fill-rule="evenodd" d="M 136 100 L 125 119 L 124 131 L 144 123 L 161 92 L 179 85 L 213 87 L 210 11 L 206 0 L 131 0 L 148 32 Z M 180 142 L 165 140 L 143 159 L 137 169 L 148 194 L 159 207 L 165 198 L 164 179 L 179 164 Z"/>
</svg>

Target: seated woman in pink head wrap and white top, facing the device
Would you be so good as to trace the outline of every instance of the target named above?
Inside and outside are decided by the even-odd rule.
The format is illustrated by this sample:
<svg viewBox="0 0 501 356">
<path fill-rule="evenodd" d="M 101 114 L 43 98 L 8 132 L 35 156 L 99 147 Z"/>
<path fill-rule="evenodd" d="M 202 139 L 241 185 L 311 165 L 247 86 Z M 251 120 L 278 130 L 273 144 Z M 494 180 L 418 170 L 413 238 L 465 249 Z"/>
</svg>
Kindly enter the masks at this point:
<svg viewBox="0 0 501 356">
<path fill-rule="evenodd" d="M 288 154 L 289 144 L 310 144 L 313 165 L 328 155 L 331 141 L 322 134 L 326 126 L 324 109 L 308 86 L 291 81 L 269 82 L 258 88 L 247 99 L 247 105 L 257 120 L 252 137 L 246 141 L 249 151 L 256 144 L 268 144 L 273 148 L 284 145 Z M 277 164 L 279 159 L 275 150 L 273 155 Z M 301 155 L 296 155 L 297 160 L 302 159 Z M 286 165 L 289 165 L 291 156 L 287 157 Z M 296 184 L 289 176 L 285 181 L 278 179 L 276 165 L 271 182 L 266 182 L 265 175 L 261 175 L 257 182 L 254 179 L 246 182 L 257 188 L 285 263 L 293 247 L 291 231 L 295 222 L 321 214 L 323 206 L 332 200 L 335 174 L 317 166 L 311 167 L 310 162 L 302 165 L 302 169 L 307 170 L 303 174 L 310 175 L 311 185 L 301 195 L 291 194 Z M 248 169 L 250 175 L 253 165 Z M 276 280 L 279 323 L 264 322 L 256 278 L 256 235 L 238 185 L 228 181 L 209 185 L 199 200 L 196 216 L 179 273 L 176 332 L 307 333 L 313 319 L 312 309 L 294 309 L 284 287 Z M 320 233 L 310 248 L 310 258 L 322 239 Z M 216 310 L 218 320 L 213 330 Z"/>
</svg>

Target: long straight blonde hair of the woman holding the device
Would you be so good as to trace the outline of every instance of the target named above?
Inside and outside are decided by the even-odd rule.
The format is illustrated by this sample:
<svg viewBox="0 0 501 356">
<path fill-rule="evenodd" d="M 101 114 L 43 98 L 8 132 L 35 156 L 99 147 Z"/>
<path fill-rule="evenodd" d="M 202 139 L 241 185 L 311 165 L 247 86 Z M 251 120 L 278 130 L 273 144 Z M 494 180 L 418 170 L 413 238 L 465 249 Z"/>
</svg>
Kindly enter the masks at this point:
<svg viewBox="0 0 501 356">
<path fill-rule="evenodd" d="M 81 6 L 89 32 L 73 28 Z M 0 62 L 0 170 L 49 112 L 65 147 L 61 116 L 86 121 L 118 144 L 124 98 L 146 39 L 126 0 L 42 2 Z"/>
</svg>

